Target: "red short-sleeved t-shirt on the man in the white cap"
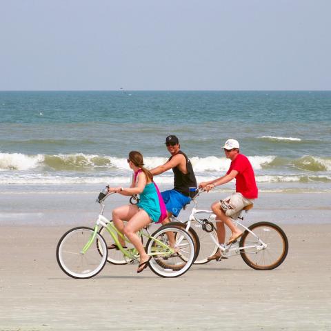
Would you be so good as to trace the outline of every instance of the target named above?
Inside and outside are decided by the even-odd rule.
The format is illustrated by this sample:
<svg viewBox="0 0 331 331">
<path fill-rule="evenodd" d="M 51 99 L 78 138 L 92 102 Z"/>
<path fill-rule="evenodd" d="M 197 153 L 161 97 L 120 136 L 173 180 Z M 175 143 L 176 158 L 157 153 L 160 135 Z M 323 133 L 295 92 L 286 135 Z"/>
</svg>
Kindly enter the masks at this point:
<svg viewBox="0 0 331 331">
<path fill-rule="evenodd" d="M 238 172 L 236 192 L 243 194 L 243 197 L 247 199 L 257 199 L 257 183 L 255 182 L 254 170 L 248 158 L 243 154 L 238 154 L 231 162 L 226 174 L 230 174 L 231 170 L 237 170 Z"/>
</svg>

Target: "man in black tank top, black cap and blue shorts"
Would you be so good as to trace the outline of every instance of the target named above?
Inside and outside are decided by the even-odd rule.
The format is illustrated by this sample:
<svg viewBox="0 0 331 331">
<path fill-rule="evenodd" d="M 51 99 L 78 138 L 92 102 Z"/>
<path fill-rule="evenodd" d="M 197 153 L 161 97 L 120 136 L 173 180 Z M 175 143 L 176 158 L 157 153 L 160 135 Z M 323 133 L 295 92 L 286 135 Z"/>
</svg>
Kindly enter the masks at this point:
<svg viewBox="0 0 331 331">
<path fill-rule="evenodd" d="M 153 175 L 162 174 L 163 172 L 172 169 L 174 172 L 174 188 L 161 192 L 165 207 L 168 211 L 168 217 L 174 215 L 177 217 L 181 208 L 187 203 L 190 203 L 189 188 L 197 188 L 197 179 L 192 168 L 192 163 L 185 153 L 181 152 L 179 140 L 176 136 L 168 136 L 165 139 L 165 145 L 171 157 L 163 165 L 150 170 Z M 166 218 L 162 223 L 168 223 L 169 218 Z"/>
</svg>

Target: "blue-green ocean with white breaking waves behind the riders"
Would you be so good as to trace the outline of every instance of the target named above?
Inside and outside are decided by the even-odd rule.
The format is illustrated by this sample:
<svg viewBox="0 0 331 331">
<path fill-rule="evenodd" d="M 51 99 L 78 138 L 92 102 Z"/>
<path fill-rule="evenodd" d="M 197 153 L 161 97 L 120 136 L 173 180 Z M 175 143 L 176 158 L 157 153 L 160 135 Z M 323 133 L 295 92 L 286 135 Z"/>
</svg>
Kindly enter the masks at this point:
<svg viewBox="0 0 331 331">
<path fill-rule="evenodd" d="M 0 92 L 0 187 L 129 183 L 128 152 L 160 165 L 168 134 L 198 181 L 225 173 L 234 138 L 261 192 L 331 192 L 331 92 L 272 91 Z M 172 172 L 155 181 L 172 185 Z"/>
</svg>

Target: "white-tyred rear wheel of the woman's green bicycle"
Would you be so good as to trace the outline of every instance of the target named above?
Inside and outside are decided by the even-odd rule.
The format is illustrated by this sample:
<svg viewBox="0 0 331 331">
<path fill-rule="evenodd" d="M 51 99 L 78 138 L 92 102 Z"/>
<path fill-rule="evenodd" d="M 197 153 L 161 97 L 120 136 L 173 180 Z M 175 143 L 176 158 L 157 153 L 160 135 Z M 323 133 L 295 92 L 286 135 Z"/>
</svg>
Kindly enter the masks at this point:
<svg viewBox="0 0 331 331">
<path fill-rule="evenodd" d="M 174 232 L 177 252 L 171 254 L 166 232 Z M 160 277 L 179 277 L 187 272 L 194 260 L 192 237 L 183 228 L 163 225 L 152 234 L 146 244 L 146 252 L 152 259 L 149 266 Z"/>
</svg>

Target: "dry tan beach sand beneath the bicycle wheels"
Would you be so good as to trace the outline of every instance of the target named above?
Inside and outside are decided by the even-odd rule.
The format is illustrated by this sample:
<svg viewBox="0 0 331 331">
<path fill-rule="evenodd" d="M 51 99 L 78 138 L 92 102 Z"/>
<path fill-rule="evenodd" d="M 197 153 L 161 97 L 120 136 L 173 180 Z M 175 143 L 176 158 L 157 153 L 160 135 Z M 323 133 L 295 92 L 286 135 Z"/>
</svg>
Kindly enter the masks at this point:
<svg viewBox="0 0 331 331">
<path fill-rule="evenodd" d="M 261 203 L 252 215 L 259 221 L 267 211 Z M 321 214 L 306 212 L 315 220 Z M 330 223 L 283 222 L 290 249 L 272 271 L 252 270 L 233 257 L 193 265 L 177 279 L 107 264 L 97 277 L 75 280 L 60 270 L 55 250 L 77 221 L 44 221 L 0 226 L 0 330 L 331 330 Z"/>
</svg>

